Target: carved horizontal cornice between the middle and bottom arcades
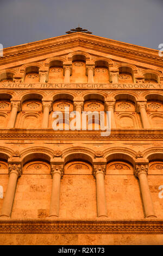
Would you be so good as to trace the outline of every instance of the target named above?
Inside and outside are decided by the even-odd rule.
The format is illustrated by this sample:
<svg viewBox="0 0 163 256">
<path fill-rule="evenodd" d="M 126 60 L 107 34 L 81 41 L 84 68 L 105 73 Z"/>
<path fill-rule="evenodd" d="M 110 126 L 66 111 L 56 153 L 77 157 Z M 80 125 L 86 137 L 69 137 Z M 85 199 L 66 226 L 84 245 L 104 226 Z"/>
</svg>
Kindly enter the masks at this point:
<svg viewBox="0 0 163 256">
<path fill-rule="evenodd" d="M 163 130 L 157 129 L 137 129 L 137 130 L 111 130 L 110 136 L 101 136 L 101 131 L 54 131 L 53 129 L 1 129 L 0 139 L 73 139 L 73 140 L 92 140 L 100 139 L 101 141 L 107 140 L 139 140 L 145 139 L 146 141 L 163 139 Z"/>
</svg>

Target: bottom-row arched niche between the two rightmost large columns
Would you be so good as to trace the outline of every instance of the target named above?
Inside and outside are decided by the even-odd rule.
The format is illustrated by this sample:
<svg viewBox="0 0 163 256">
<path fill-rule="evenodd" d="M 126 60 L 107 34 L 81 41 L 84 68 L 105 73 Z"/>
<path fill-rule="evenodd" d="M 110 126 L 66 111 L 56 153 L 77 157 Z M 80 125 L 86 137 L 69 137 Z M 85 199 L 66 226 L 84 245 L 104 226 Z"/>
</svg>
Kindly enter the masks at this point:
<svg viewBox="0 0 163 256">
<path fill-rule="evenodd" d="M 128 154 L 113 153 L 107 159 L 105 195 L 109 217 L 114 220 L 143 218 L 139 181 L 134 160 Z"/>
</svg>

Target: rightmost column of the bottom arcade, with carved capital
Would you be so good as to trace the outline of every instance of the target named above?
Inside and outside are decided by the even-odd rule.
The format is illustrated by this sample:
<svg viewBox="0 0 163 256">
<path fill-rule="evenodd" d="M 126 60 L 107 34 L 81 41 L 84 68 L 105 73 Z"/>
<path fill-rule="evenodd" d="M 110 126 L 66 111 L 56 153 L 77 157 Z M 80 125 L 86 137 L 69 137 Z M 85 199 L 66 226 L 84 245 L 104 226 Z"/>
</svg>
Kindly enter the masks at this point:
<svg viewBox="0 0 163 256">
<path fill-rule="evenodd" d="M 135 176 L 139 178 L 140 190 L 141 190 L 146 218 L 156 217 L 154 214 L 153 202 L 152 202 L 151 192 L 149 190 L 147 174 L 148 174 L 147 164 L 136 164 Z"/>
</svg>

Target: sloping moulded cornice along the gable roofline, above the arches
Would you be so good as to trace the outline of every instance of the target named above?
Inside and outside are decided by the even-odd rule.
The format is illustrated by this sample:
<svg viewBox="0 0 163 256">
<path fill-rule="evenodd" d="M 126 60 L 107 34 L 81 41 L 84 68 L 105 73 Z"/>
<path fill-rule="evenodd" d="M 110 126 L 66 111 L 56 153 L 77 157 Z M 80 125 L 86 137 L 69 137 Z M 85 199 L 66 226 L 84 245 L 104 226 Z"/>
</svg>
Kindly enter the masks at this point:
<svg viewBox="0 0 163 256">
<path fill-rule="evenodd" d="M 83 46 L 99 52 L 111 53 L 116 56 L 135 59 L 140 62 L 163 67 L 163 61 L 162 58 L 159 57 L 158 50 L 152 50 L 150 48 L 131 45 L 95 35 L 85 35 L 83 33 L 57 36 L 52 39 L 5 48 L 4 57 L 0 58 L 0 65 L 37 56 L 41 56 L 43 59 L 44 54 L 76 46 Z"/>
</svg>

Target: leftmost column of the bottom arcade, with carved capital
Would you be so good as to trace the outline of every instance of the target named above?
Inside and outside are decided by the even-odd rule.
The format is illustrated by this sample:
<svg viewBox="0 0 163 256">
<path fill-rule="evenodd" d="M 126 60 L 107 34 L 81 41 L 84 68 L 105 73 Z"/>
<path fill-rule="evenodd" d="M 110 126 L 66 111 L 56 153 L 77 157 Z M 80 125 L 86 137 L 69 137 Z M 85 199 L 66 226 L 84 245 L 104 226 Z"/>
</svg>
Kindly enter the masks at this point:
<svg viewBox="0 0 163 256">
<path fill-rule="evenodd" d="M 21 164 L 9 164 L 9 182 L 3 201 L 0 217 L 10 217 L 14 203 L 17 179 L 22 174 Z"/>
</svg>

